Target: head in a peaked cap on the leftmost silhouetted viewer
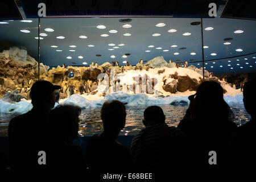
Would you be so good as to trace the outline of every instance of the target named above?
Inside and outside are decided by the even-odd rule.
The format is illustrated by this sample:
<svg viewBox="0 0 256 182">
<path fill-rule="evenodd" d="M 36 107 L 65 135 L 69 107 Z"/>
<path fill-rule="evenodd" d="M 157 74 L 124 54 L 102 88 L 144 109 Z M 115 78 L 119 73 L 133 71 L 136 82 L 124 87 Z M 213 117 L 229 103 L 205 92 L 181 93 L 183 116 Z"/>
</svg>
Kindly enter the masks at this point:
<svg viewBox="0 0 256 182">
<path fill-rule="evenodd" d="M 55 90 L 60 89 L 60 86 L 53 85 L 49 81 L 36 81 L 30 91 L 30 98 L 33 107 L 40 110 L 51 110 L 55 105 L 56 95 Z"/>
</svg>

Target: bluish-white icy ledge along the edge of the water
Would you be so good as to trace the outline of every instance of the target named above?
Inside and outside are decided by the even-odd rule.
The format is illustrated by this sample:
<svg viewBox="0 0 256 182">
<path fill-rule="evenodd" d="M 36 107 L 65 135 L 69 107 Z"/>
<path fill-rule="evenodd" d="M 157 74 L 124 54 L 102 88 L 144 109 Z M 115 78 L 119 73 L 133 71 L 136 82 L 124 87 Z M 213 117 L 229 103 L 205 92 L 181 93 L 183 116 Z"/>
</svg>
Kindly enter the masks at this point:
<svg viewBox="0 0 256 182">
<path fill-rule="evenodd" d="M 140 105 L 170 105 L 174 103 L 176 105 L 189 104 L 188 96 L 170 96 L 170 97 L 149 97 L 145 94 L 127 94 L 125 92 L 114 92 L 108 94 L 105 98 L 98 100 L 88 100 L 86 96 L 80 94 L 74 94 L 68 99 L 61 100 L 60 104 L 72 104 L 81 107 L 82 109 L 92 109 L 101 107 L 105 101 L 119 100 L 126 103 L 126 106 L 140 106 Z M 243 107 L 243 96 L 238 94 L 236 96 L 226 95 L 224 100 L 230 106 Z M 56 104 L 55 106 L 57 106 Z M 20 101 L 15 104 L 10 104 L 0 100 L 0 114 L 23 114 L 32 109 L 30 101 Z"/>
</svg>

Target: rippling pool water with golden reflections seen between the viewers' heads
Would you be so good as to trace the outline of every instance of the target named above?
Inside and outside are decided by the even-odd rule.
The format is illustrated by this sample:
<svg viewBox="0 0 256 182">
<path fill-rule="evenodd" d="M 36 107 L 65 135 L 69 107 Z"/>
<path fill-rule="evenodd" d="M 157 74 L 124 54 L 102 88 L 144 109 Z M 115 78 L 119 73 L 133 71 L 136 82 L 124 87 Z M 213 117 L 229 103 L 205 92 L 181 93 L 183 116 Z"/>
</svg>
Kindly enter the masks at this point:
<svg viewBox="0 0 256 182">
<path fill-rule="evenodd" d="M 168 125 L 177 126 L 180 119 L 185 115 L 188 106 L 163 105 L 160 107 L 162 107 L 164 114 L 166 114 L 166 122 Z M 120 135 L 135 135 L 144 127 L 142 119 L 143 111 L 146 108 L 147 106 L 126 107 L 126 125 Z M 233 106 L 231 109 L 233 111 L 233 121 L 235 121 L 238 126 L 250 120 L 250 115 L 246 113 L 244 107 Z M 15 115 L 0 115 L 0 137 L 7 136 L 9 121 L 13 117 L 15 117 Z M 79 127 L 80 136 L 92 136 L 103 131 L 100 108 L 82 110 L 80 118 L 82 119 L 82 123 Z"/>
</svg>

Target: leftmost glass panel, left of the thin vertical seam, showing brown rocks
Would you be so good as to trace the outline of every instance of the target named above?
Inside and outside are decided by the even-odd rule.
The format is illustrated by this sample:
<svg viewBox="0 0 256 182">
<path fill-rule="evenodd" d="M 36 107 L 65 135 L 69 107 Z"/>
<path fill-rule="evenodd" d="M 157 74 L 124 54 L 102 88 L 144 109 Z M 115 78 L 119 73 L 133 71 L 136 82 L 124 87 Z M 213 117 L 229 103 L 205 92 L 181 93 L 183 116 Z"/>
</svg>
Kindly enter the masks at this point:
<svg viewBox="0 0 256 182">
<path fill-rule="evenodd" d="M 26 101 L 38 80 L 37 37 L 38 19 L 0 22 L 0 137 L 7 135 L 10 118 L 32 108 Z"/>
</svg>

